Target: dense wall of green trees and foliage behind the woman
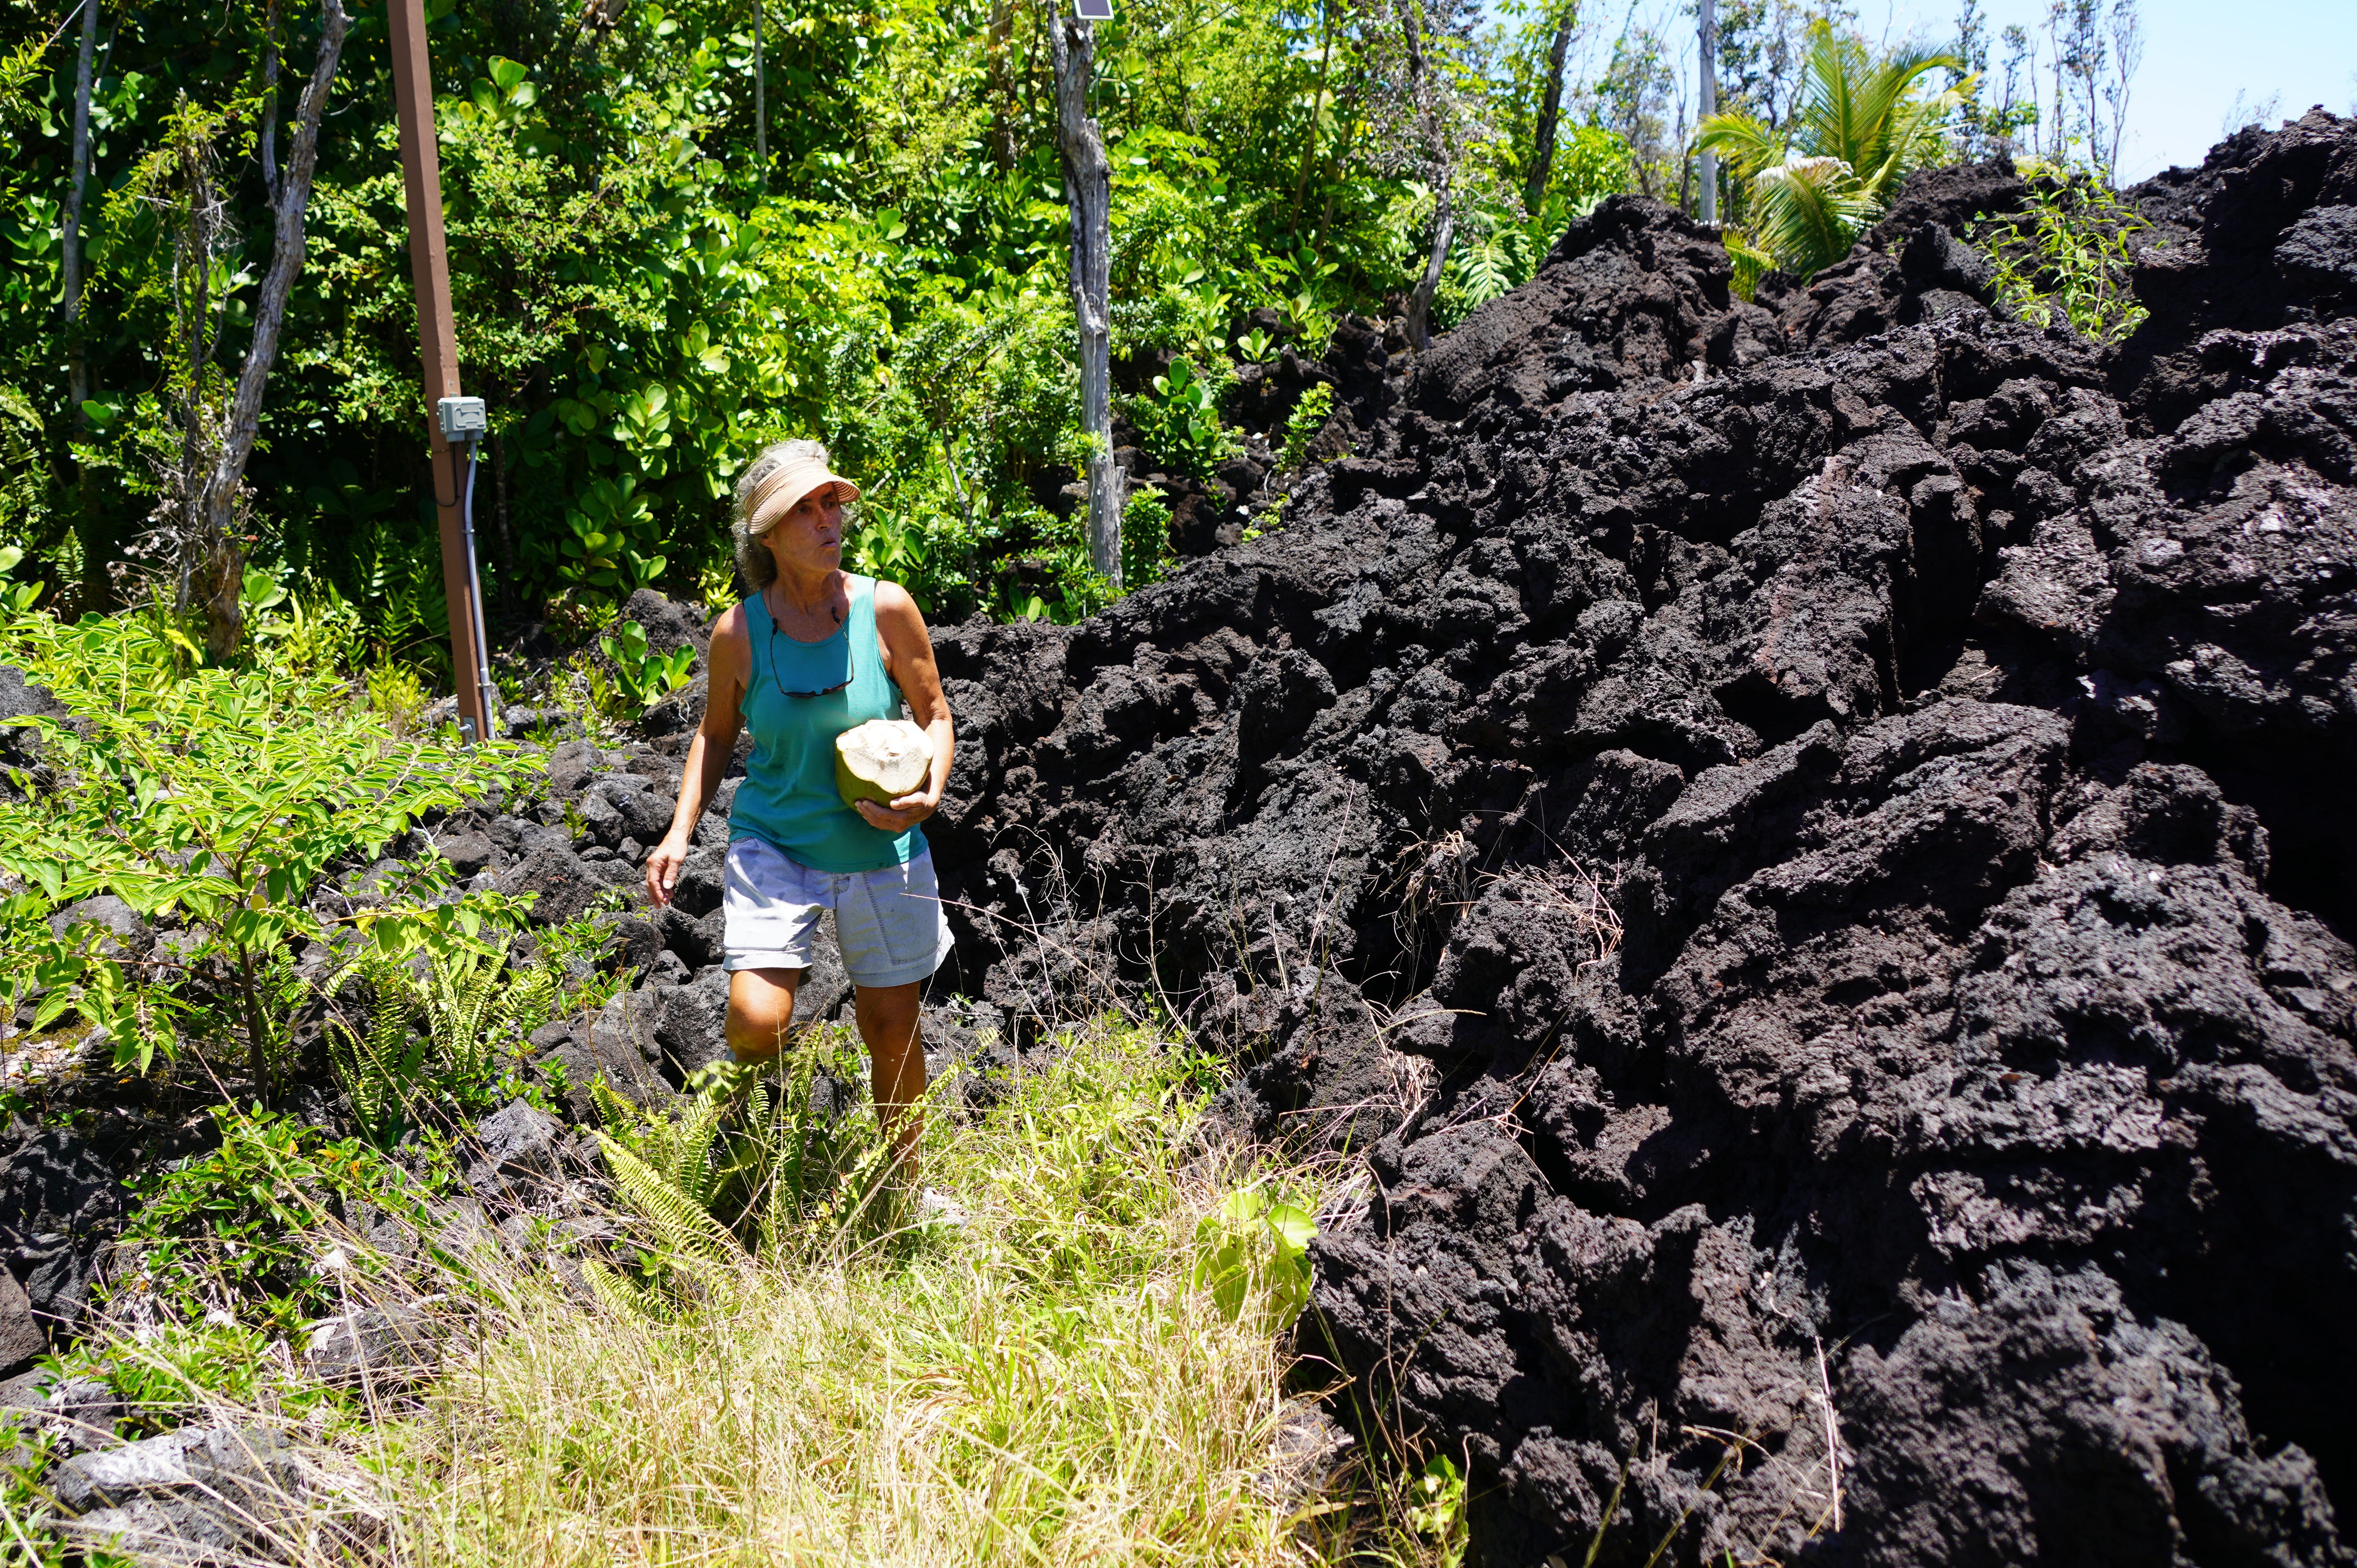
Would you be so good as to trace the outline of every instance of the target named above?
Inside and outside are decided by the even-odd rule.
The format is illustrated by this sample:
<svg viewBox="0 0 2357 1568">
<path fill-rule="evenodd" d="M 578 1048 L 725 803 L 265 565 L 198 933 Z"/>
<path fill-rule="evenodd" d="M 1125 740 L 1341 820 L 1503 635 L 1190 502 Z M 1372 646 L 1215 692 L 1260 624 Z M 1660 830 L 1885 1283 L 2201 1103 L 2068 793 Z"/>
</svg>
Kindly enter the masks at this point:
<svg viewBox="0 0 2357 1568">
<path fill-rule="evenodd" d="M 766 125 L 735 0 L 427 14 L 462 380 L 490 403 L 476 516 L 497 611 L 641 585 L 702 597 L 728 483 L 780 434 L 818 434 L 860 474 L 851 559 L 929 613 L 1101 604 L 1054 500 L 1080 448 L 1035 7 L 771 19 Z M 1619 132 L 1565 116 L 1525 203 L 1553 21 L 1426 21 L 1464 236 L 1442 323 L 1633 184 Z M 330 85 L 233 545 L 313 601 L 332 589 L 391 658 L 445 679 L 429 502 L 460 476 L 420 467 L 384 28 L 354 14 Z M 1160 363 L 1122 370 L 1120 413 L 1169 472 L 1235 443 L 1216 398 L 1247 309 L 1280 311 L 1315 354 L 1343 311 L 1381 311 L 1421 271 L 1442 172 L 1388 87 L 1398 28 L 1388 9 L 1155 0 L 1101 31 L 1115 356 L 1186 363 L 1176 391 L 1148 384 Z M 174 493 L 191 410 L 219 406 L 252 335 L 273 158 L 318 33 L 306 7 L 101 7 L 90 198 L 68 236 L 75 35 L 33 0 L 0 12 L 0 50 L 28 61 L 24 156 L 0 184 L 0 439 L 31 460 L 9 462 L 0 545 L 68 608 L 120 599 L 115 568 Z M 191 229 L 200 203 L 212 217 Z M 1054 589 L 1021 587 L 1039 580 L 1023 561 L 1047 561 Z"/>
</svg>

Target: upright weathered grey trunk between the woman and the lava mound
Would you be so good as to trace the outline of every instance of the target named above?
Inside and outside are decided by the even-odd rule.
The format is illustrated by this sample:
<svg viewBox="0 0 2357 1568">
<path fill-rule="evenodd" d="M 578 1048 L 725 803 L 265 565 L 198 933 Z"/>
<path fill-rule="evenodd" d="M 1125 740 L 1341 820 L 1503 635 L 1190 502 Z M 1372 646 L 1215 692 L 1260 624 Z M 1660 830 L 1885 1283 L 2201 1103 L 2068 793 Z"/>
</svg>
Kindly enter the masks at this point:
<svg viewBox="0 0 2357 1568">
<path fill-rule="evenodd" d="M 1096 24 L 1049 17 L 1056 146 L 1072 210 L 1072 318 L 1080 325 L 1080 429 L 1089 441 L 1089 566 L 1122 585 L 1122 469 L 1113 462 L 1113 165 L 1089 118 Z"/>
</svg>

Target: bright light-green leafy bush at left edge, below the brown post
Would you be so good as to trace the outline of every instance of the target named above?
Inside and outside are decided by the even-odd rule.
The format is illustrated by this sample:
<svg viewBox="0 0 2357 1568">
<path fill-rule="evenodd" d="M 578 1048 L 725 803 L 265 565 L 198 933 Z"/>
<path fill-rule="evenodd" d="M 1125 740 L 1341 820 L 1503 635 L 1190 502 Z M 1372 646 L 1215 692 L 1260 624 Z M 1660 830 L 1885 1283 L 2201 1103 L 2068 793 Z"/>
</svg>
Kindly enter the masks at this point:
<svg viewBox="0 0 2357 1568">
<path fill-rule="evenodd" d="M 337 931 L 356 929 L 382 953 L 445 948 L 507 910 L 500 894 L 330 908 L 313 889 L 330 863 L 375 858 L 424 811 L 511 788 L 537 766 L 511 747 L 398 740 L 330 674 L 193 665 L 193 641 L 160 613 L 19 618 L 0 658 L 68 714 L 19 719 L 40 731 L 59 783 L 19 778 L 19 799 L 0 802 L 0 870 L 21 887 L 0 903 L 0 988 L 12 1007 L 47 993 L 35 1028 L 73 1009 L 108 1033 L 120 1066 L 144 1070 L 174 1052 L 179 1021 L 212 1016 L 212 988 L 269 1096 L 285 1009 L 264 1002 L 295 946 L 332 953 Z M 417 872 L 424 891 L 434 865 Z M 106 927 L 49 929 L 94 894 L 179 931 L 132 955 Z"/>
</svg>

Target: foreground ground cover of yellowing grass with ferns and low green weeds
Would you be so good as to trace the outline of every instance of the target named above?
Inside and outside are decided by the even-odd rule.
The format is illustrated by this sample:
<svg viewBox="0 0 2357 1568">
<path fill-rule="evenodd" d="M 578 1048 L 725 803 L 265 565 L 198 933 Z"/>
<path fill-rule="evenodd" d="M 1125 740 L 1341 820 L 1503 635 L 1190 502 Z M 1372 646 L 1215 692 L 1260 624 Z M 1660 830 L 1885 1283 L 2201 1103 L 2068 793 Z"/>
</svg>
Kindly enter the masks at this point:
<svg viewBox="0 0 2357 1568">
<path fill-rule="evenodd" d="M 1096 1021 L 988 1111 L 938 1101 L 926 1184 L 964 1221 L 915 1228 L 872 1181 L 872 1106 L 839 1099 L 858 1068 L 818 1030 L 676 1120 L 608 1101 L 627 1240 L 530 1243 L 580 1259 L 573 1287 L 453 1226 L 441 1144 L 391 1162 L 224 1108 L 222 1148 L 151 1181 L 111 1304 L 146 1332 L 68 1370 L 127 1396 L 127 1436 L 295 1429 L 403 1561 L 1461 1561 L 1445 1460 L 1285 1469 L 1270 1335 L 1332 1177 L 1207 1153 L 1207 1063 Z M 382 1219 L 422 1245 L 372 1245 Z M 316 1382 L 304 1320 L 346 1304 L 427 1311 L 469 1349 L 405 1391 Z M 42 1549 L 38 1509 L 19 1528 Z"/>
</svg>

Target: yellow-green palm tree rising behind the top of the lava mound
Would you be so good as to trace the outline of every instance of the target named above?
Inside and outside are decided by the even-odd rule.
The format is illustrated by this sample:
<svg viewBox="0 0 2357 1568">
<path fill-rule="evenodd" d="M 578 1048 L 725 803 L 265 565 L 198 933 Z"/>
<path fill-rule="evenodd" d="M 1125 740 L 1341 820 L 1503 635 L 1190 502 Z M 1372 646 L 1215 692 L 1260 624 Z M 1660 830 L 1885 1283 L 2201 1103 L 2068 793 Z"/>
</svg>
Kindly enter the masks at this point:
<svg viewBox="0 0 2357 1568">
<path fill-rule="evenodd" d="M 1718 151 L 1744 184 L 1744 222 L 1728 229 L 1737 283 L 1765 264 L 1810 276 L 1850 252 L 1900 182 L 1942 151 L 1942 125 L 1973 80 L 1926 94 L 1919 83 L 1963 64 L 1940 50 L 1874 57 L 1824 21 L 1810 26 L 1801 106 L 1784 125 L 1718 113 L 1695 144 Z"/>
</svg>

